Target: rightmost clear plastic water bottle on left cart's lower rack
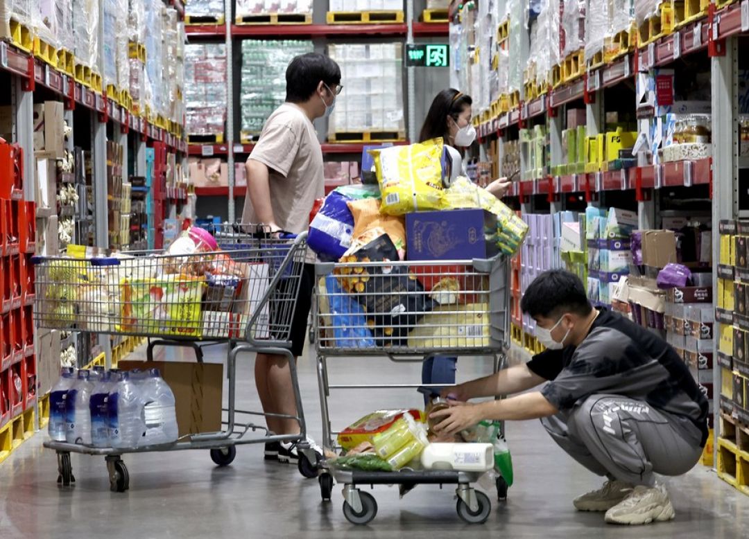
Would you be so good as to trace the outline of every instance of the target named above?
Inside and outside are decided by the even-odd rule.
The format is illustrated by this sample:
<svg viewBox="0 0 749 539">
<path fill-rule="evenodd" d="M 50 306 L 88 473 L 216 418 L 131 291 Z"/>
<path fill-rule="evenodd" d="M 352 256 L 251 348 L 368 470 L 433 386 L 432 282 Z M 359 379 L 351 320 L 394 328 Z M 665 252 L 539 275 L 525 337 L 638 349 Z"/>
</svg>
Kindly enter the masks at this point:
<svg viewBox="0 0 749 539">
<path fill-rule="evenodd" d="M 143 417 L 145 419 L 144 445 L 175 442 L 178 438 L 175 394 L 164 381 L 159 369 L 145 373 L 141 386 Z"/>
</svg>

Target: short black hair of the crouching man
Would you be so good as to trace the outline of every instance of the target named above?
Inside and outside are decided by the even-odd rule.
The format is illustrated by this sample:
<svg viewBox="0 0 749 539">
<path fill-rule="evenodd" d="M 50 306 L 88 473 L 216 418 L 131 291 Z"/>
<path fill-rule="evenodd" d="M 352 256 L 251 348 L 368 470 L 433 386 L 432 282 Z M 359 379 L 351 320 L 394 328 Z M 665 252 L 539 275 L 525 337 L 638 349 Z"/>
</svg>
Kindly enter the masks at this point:
<svg viewBox="0 0 749 539">
<path fill-rule="evenodd" d="M 531 317 L 557 318 L 565 312 L 587 316 L 592 311 L 580 278 L 565 270 L 549 270 L 533 279 L 521 309 Z"/>
</svg>

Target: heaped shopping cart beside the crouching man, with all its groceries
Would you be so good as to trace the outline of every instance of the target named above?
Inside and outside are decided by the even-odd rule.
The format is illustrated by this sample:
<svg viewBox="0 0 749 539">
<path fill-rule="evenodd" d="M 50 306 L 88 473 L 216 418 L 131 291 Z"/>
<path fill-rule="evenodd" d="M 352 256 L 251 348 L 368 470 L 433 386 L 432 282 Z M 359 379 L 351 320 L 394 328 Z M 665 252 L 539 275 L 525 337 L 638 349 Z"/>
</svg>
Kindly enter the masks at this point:
<svg viewBox="0 0 749 539">
<path fill-rule="evenodd" d="M 407 383 L 398 365 L 438 355 L 485 357 L 492 372 L 505 366 L 509 259 L 527 225 L 467 177 L 450 182 L 441 139 L 377 147 L 369 156 L 363 184 L 331 192 L 309 229 L 321 261 L 313 328 L 325 449 L 321 495 L 330 499 L 333 484 L 341 484 L 345 517 L 366 524 L 377 502 L 361 485 L 397 484 L 403 496 L 418 484 L 454 484 L 458 516 L 484 523 L 491 502 L 475 484 L 491 485 L 500 499 L 512 484 L 503 424 L 482 421 L 444 436 L 430 413 L 449 406 L 448 395 L 434 392 L 437 384 Z M 357 383 L 333 380 L 336 365 L 355 360 L 363 361 Z M 386 390 L 413 398 L 416 388 L 428 395 L 425 409 L 401 402 L 334 430 L 333 393 L 364 399 Z"/>
</svg>

